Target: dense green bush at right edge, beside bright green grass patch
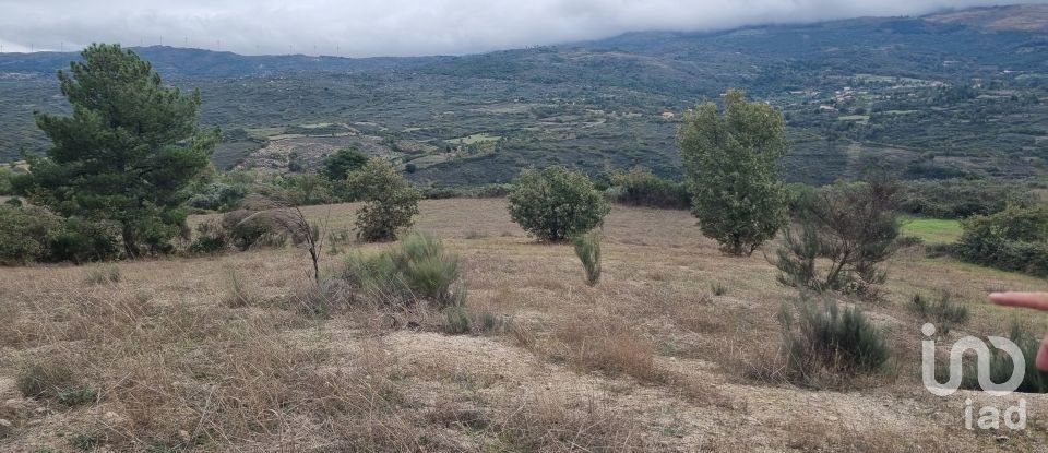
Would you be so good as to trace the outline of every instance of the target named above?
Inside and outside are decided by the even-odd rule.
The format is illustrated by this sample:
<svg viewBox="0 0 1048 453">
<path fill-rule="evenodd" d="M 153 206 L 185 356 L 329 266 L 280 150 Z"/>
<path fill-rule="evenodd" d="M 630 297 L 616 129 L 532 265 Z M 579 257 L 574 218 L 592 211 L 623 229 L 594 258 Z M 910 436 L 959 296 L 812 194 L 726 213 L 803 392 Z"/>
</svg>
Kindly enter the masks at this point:
<svg viewBox="0 0 1048 453">
<path fill-rule="evenodd" d="M 1005 271 L 1048 276 L 1048 208 L 1009 206 L 963 224 L 951 246 L 957 258 Z"/>
</svg>

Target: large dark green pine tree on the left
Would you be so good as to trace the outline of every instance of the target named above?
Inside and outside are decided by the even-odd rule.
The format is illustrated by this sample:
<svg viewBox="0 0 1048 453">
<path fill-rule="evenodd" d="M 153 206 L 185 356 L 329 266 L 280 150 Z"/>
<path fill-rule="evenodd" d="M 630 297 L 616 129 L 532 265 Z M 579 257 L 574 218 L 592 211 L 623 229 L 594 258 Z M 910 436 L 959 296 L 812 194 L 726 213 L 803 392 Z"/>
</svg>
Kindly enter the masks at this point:
<svg viewBox="0 0 1048 453">
<path fill-rule="evenodd" d="M 130 257 L 159 252 L 184 226 L 186 186 L 209 165 L 218 130 L 200 130 L 200 93 L 165 86 L 148 61 L 119 45 L 84 49 L 59 71 L 72 116 L 36 112 L 51 140 L 20 187 L 64 216 L 120 225 Z"/>
</svg>

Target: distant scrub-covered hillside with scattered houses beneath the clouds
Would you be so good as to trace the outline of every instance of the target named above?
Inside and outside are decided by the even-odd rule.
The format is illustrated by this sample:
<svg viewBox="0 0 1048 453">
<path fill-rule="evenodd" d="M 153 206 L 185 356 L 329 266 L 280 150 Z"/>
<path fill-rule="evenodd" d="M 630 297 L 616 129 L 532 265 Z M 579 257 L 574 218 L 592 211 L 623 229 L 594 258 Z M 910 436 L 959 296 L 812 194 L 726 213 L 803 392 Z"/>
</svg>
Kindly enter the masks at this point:
<svg viewBox="0 0 1048 453">
<path fill-rule="evenodd" d="M 287 171 L 353 145 L 417 181 L 502 182 L 522 167 L 679 175 L 679 115 L 741 87 L 787 117 L 791 179 L 856 176 L 872 162 L 909 178 L 1048 175 L 1046 7 L 861 17 L 609 39 L 461 57 L 135 51 L 199 87 L 221 126 L 223 168 Z M 0 160 L 46 142 L 34 110 L 64 111 L 53 72 L 75 53 L 0 55 Z"/>
</svg>

